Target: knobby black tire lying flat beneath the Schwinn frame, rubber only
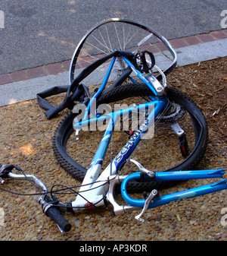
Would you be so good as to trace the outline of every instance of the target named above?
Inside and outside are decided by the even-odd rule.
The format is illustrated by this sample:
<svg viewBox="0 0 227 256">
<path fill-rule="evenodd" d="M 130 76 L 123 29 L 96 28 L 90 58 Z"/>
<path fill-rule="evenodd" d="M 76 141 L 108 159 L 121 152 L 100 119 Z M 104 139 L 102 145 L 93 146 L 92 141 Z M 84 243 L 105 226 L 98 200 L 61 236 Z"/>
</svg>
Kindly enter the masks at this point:
<svg viewBox="0 0 227 256">
<path fill-rule="evenodd" d="M 107 93 L 102 93 L 97 100 L 97 105 L 101 103 L 113 103 L 118 100 L 123 100 L 129 96 L 149 96 L 151 90 L 145 84 L 123 84 L 113 90 L 107 90 Z M 207 122 L 204 118 L 199 107 L 192 101 L 185 93 L 180 92 L 175 88 L 169 88 L 167 91 L 167 96 L 170 102 L 179 104 L 184 109 L 187 110 L 189 118 L 191 119 L 191 124 L 194 131 L 194 146 L 191 150 L 189 156 L 182 160 L 181 163 L 171 166 L 170 168 L 161 169 L 160 171 L 179 171 L 179 170 L 193 170 L 201 162 L 204 156 L 205 150 L 207 148 L 208 141 L 208 129 Z M 73 176 L 75 179 L 82 181 L 86 175 L 87 169 L 81 164 L 76 163 L 73 157 L 67 153 L 66 145 L 70 134 L 73 132 L 73 119 L 76 114 L 70 112 L 64 117 L 58 128 L 55 130 L 53 137 L 53 149 L 54 155 L 56 156 L 60 165 Z M 163 125 L 169 124 L 173 120 L 164 120 Z M 160 156 L 163 155 L 165 149 L 161 148 Z M 81 156 L 82 157 L 82 156 Z M 146 156 L 147 157 L 147 156 Z M 163 156 L 162 156 L 163 157 Z M 148 168 L 148 167 L 147 167 Z M 149 168 L 148 168 L 149 169 Z M 150 166 L 151 169 L 151 166 Z M 152 170 L 152 169 L 151 169 Z M 163 183 L 161 183 L 163 184 Z M 140 182 L 135 181 L 129 184 L 129 191 L 149 191 L 154 186 L 157 187 L 157 182 Z"/>
</svg>

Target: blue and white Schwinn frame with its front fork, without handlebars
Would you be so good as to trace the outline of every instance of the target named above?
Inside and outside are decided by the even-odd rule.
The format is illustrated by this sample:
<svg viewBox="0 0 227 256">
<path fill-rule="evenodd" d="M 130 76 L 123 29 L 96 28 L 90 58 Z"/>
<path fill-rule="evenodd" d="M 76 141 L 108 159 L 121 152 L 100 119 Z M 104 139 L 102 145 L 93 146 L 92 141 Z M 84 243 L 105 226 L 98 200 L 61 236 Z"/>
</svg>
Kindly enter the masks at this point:
<svg viewBox="0 0 227 256">
<path fill-rule="evenodd" d="M 79 129 L 84 128 L 88 124 L 92 124 L 92 122 L 98 122 L 98 121 L 104 121 L 106 119 L 107 122 L 107 128 L 104 131 L 103 138 L 101 140 L 101 143 L 98 147 L 98 150 L 95 153 L 95 156 L 92 160 L 91 165 L 89 166 L 88 171 L 86 172 L 86 176 L 82 182 L 82 186 L 78 192 L 78 195 L 76 197 L 76 200 L 71 203 L 73 210 L 80 209 L 81 207 L 86 206 L 104 206 L 106 204 L 106 200 L 113 205 L 113 212 L 115 214 L 123 213 L 126 210 L 134 210 L 138 207 L 145 207 L 145 210 L 147 208 L 151 207 L 157 207 L 162 204 L 167 204 L 169 201 L 176 201 L 181 198 L 190 198 L 194 196 L 198 196 L 201 194 L 207 194 L 213 191 L 219 191 L 222 189 L 227 188 L 226 181 L 223 180 L 221 182 L 217 182 L 215 185 L 207 185 L 206 187 L 199 187 L 194 188 L 190 191 L 182 191 L 176 194 L 169 194 L 167 196 L 160 197 L 158 200 L 156 200 L 156 203 L 150 204 L 151 197 L 148 200 L 148 204 L 146 205 L 146 201 L 144 200 L 134 200 L 129 197 L 129 194 L 126 192 L 126 184 L 131 179 L 139 179 L 140 172 L 135 172 L 132 175 L 129 176 L 118 176 L 118 172 L 120 170 L 120 167 L 123 166 L 124 163 L 126 163 L 127 160 L 129 160 L 130 156 L 132 155 L 132 152 L 135 150 L 135 147 L 138 145 L 139 141 L 143 138 L 145 135 L 145 132 L 148 131 L 149 128 L 154 127 L 154 120 L 157 117 L 157 115 L 163 111 L 163 109 L 166 108 L 168 105 L 168 99 L 166 98 L 166 95 L 163 94 L 162 96 L 158 96 L 157 91 L 157 82 L 155 77 L 152 77 L 152 80 L 148 80 L 147 77 L 145 77 L 144 74 L 141 74 L 140 71 L 136 70 L 135 67 L 132 65 L 129 60 L 121 56 L 123 60 L 126 62 L 127 65 L 129 65 L 130 68 L 132 68 L 133 71 L 135 71 L 135 74 L 137 74 L 138 78 L 143 81 L 145 84 L 148 85 L 148 87 L 151 89 L 152 93 L 154 93 L 155 96 L 151 97 L 151 102 L 144 103 L 139 106 L 132 106 L 127 109 L 121 109 L 117 112 L 110 112 L 106 115 L 96 116 L 96 113 L 94 112 L 94 109 L 92 109 L 92 104 L 94 103 L 95 99 L 98 98 L 98 96 L 101 94 L 101 92 L 104 90 L 108 77 L 110 76 L 111 69 L 113 68 L 113 64 L 116 61 L 117 57 L 113 57 L 112 62 L 110 62 L 110 68 L 107 71 L 107 75 L 104 78 L 103 84 L 101 84 L 101 87 L 99 88 L 98 92 L 95 93 L 95 96 L 91 99 L 88 105 L 88 109 L 86 110 L 86 114 L 84 115 L 84 119 L 82 119 L 82 122 L 77 122 L 73 124 L 73 127 L 75 130 L 79 131 Z M 163 74 L 162 74 L 163 75 Z M 165 79 L 163 79 L 163 83 L 165 84 Z M 166 84 L 165 84 L 166 85 Z M 165 87 L 164 85 L 164 87 Z M 161 86 L 160 83 L 158 86 Z M 110 138 L 113 133 L 114 126 L 117 123 L 117 119 L 120 118 L 121 115 L 124 115 L 125 113 L 132 112 L 133 110 L 139 111 L 145 111 L 145 109 L 148 109 L 148 107 L 151 107 L 152 111 L 149 113 L 147 119 L 141 124 L 141 126 L 138 128 L 137 131 L 135 131 L 135 134 L 129 139 L 129 141 L 124 145 L 122 150 L 120 150 L 120 153 L 115 156 L 115 158 L 111 161 L 111 163 L 107 166 L 106 169 L 101 173 L 101 166 L 104 160 L 105 153 L 107 152 L 107 147 L 110 144 Z M 95 116 L 92 119 L 88 119 L 89 113 L 92 113 L 93 116 Z M 143 167 L 139 166 L 138 163 L 136 165 L 141 169 L 142 172 L 148 172 L 148 170 L 145 170 Z M 158 180 L 171 180 L 171 179 L 204 179 L 206 178 L 219 178 L 222 177 L 223 173 L 225 171 L 223 169 L 220 169 L 216 172 L 213 170 L 207 170 L 204 172 L 167 172 L 164 175 L 162 175 L 162 172 L 157 173 L 156 179 Z M 159 178 L 157 178 L 159 177 Z M 172 178 L 171 178 L 172 177 Z M 117 204 L 114 198 L 114 188 L 115 185 L 119 182 L 123 182 L 121 185 L 121 194 L 123 195 L 124 200 L 129 204 L 128 206 L 120 206 Z M 91 192 L 92 191 L 92 192 Z M 106 197 L 105 197 L 106 195 Z M 153 195 L 153 197 L 156 194 Z M 141 217 L 138 217 L 138 220 L 142 220 Z"/>
</svg>

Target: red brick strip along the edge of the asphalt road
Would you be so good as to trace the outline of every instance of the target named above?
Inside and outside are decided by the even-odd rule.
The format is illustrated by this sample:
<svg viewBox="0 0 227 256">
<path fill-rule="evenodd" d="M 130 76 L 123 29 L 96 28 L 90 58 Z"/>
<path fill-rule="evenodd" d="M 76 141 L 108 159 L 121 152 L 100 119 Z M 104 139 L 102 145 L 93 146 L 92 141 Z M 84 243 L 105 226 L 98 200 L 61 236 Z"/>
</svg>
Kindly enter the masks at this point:
<svg viewBox="0 0 227 256">
<path fill-rule="evenodd" d="M 174 49 L 179 49 L 187 46 L 195 46 L 200 43 L 208 43 L 216 40 L 227 38 L 227 29 L 212 31 L 210 33 L 198 34 L 195 36 L 186 36 L 179 39 L 169 40 Z M 28 68 L 21 71 L 16 71 L 10 74 L 0 74 L 0 85 L 10 84 L 19 81 L 54 75 L 68 71 L 70 68 L 70 60 L 64 62 L 43 65 L 36 68 Z"/>
</svg>

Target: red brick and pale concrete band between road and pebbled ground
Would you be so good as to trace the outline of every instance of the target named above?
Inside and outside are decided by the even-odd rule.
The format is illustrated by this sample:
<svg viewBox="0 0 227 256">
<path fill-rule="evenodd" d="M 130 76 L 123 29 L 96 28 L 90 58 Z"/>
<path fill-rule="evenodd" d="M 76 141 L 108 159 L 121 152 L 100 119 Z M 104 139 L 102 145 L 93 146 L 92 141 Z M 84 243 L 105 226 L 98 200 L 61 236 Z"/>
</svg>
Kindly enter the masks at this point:
<svg viewBox="0 0 227 256">
<path fill-rule="evenodd" d="M 178 65 L 191 65 L 227 55 L 227 30 L 169 40 Z M 69 84 L 70 61 L 0 75 L 0 106 L 36 99 L 36 93 Z"/>
</svg>

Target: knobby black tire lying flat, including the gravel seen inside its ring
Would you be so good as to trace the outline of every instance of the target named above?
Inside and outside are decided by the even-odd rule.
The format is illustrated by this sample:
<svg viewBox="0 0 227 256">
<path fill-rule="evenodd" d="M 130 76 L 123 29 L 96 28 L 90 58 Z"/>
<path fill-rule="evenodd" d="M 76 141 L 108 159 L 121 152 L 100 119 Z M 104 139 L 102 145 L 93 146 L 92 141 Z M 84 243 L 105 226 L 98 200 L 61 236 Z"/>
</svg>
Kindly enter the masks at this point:
<svg viewBox="0 0 227 256">
<path fill-rule="evenodd" d="M 97 100 L 97 106 L 101 103 L 126 103 L 129 106 L 130 103 L 136 103 L 135 99 L 141 103 L 141 100 L 146 100 L 146 96 L 150 95 L 151 90 L 145 84 L 124 84 L 113 90 L 104 91 Z M 151 140 L 142 140 L 132 158 L 155 172 L 192 170 L 200 163 L 207 147 L 207 122 L 198 106 L 185 93 L 169 88 L 167 96 L 169 107 L 155 120 L 154 137 Z M 76 140 L 72 125 L 75 117 L 76 114 L 70 112 L 58 125 L 54 133 L 53 148 L 61 166 L 75 179 L 82 180 L 103 133 L 82 131 L 79 140 Z M 171 128 L 171 125 L 176 123 L 185 131 L 187 156 L 182 156 L 178 136 Z M 120 152 L 128 139 L 129 135 L 125 131 L 113 131 L 113 142 L 107 150 L 103 168 L 110 163 L 110 156 Z M 138 171 L 135 166 L 126 163 L 120 175 L 127 175 L 132 170 Z M 128 190 L 148 191 L 157 185 L 160 184 L 135 181 L 129 184 Z"/>
</svg>

